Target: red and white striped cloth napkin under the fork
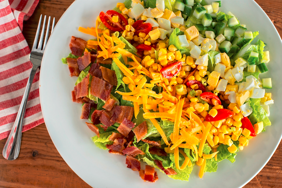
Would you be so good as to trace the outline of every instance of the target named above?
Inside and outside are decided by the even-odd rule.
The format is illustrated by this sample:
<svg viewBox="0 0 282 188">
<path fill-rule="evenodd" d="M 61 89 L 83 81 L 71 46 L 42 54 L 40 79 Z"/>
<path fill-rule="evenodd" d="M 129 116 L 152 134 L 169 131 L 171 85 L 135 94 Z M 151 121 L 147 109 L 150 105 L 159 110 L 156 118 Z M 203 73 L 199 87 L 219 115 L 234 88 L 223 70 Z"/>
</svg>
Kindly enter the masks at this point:
<svg viewBox="0 0 282 188">
<path fill-rule="evenodd" d="M 39 0 L 0 0 L 0 140 L 9 136 L 32 68 L 29 47 L 22 34 L 23 21 Z M 27 102 L 22 131 L 41 123 L 39 71 Z"/>
</svg>

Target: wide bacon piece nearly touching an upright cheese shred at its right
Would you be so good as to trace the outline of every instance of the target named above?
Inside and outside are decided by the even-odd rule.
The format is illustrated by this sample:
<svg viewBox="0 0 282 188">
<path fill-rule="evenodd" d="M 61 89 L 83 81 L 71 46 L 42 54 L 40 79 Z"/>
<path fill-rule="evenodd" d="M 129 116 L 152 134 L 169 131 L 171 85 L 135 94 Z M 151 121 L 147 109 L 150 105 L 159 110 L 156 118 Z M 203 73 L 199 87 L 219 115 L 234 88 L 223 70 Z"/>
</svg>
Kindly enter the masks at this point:
<svg viewBox="0 0 282 188">
<path fill-rule="evenodd" d="M 117 106 L 111 121 L 122 123 L 124 118 L 131 120 L 133 113 L 134 113 L 134 108 L 131 106 Z"/>
</svg>

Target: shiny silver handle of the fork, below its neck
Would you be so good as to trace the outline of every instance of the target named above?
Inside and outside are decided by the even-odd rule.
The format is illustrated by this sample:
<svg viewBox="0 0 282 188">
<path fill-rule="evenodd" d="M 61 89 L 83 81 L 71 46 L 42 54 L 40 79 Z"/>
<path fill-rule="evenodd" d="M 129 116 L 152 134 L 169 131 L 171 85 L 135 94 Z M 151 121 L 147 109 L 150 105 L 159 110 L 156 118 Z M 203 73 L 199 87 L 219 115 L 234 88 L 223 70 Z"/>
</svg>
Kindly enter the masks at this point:
<svg viewBox="0 0 282 188">
<path fill-rule="evenodd" d="M 22 97 L 22 102 L 21 105 L 19 106 L 19 111 L 16 117 L 16 121 L 14 123 L 14 126 L 11 130 L 11 133 L 6 141 L 6 144 L 4 146 L 3 149 L 3 156 L 5 159 L 8 160 L 14 160 L 17 159 L 17 157 L 19 156 L 19 149 L 21 146 L 21 138 L 22 138 L 22 125 L 23 125 L 23 121 L 24 121 L 24 113 L 25 113 L 25 108 L 27 105 L 27 99 L 28 99 L 28 95 L 29 95 L 29 91 L 32 85 L 32 81 L 34 79 L 36 70 L 37 70 L 38 66 L 33 66 L 32 70 L 30 72 L 29 78 L 28 78 L 28 82 L 27 82 L 27 86 L 24 90 L 24 95 Z"/>
</svg>

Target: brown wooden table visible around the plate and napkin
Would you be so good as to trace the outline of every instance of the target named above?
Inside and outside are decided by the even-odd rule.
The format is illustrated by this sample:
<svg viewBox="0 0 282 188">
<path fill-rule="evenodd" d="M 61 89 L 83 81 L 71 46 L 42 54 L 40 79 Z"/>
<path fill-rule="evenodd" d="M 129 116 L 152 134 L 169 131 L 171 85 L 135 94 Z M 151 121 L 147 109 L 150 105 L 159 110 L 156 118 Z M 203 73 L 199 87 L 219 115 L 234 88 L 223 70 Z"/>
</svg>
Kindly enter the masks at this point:
<svg viewBox="0 0 282 188">
<path fill-rule="evenodd" d="M 256 0 L 270 17 L 282 36 L 282 1 Z M 40 14 L 55 16 L 56 22 L 73 0 L 40 0 L 32 17 L 24 22 L 23 34 L 32 47 Z M 71 23 L 70 23 L 71 24 Z M 3 150 L 6 139 L 0 141 Z M 245 188 L 282 187 L 282 143 L 270 161 Z M 90 186 L 78 177 L 55 148 L 45 124 L 22 133 L 22 144 L 17 160 L 8 161 L 0 155 L 0 187 L 80 187 Z"/>
</svg>

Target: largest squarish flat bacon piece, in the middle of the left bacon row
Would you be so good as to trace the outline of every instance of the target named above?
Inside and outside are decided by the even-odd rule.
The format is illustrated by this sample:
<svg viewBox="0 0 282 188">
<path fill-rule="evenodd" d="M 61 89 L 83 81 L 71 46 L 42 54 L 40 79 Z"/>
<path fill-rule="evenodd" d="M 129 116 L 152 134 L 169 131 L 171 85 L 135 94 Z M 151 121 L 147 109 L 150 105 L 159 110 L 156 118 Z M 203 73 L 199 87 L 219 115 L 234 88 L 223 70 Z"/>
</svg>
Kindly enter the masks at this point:
<svg viewBox="0 0 282 188">
<path fill-rule="evenodd" d="M 90 94 L 102 100 L 109 100 L 113 85 L 101 80 L 95 76 L 92 77 Z M 132 107 L 131 107 L 132 108 Z M 133 113 L 132 113 L 133 115 Z"/>
</svg>

